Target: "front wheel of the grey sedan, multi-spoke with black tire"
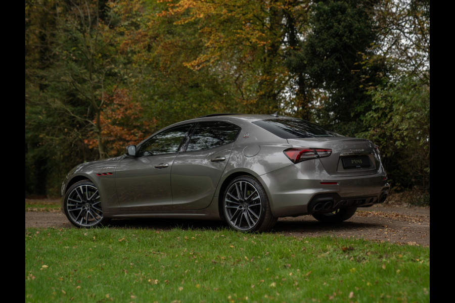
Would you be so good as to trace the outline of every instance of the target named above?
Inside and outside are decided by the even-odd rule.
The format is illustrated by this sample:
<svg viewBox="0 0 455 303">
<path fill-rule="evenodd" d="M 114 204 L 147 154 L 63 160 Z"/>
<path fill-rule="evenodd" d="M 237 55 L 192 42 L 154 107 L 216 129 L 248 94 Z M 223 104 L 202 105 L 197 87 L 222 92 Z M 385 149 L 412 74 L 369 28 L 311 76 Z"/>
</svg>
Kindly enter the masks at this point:
<svg viewBox="0 0 455 303">
<path fill-rule="evenodd" d="M 73 184 L 64 199 L 66 217 L 76 227 L 94 227 L 106 221 L 100 193 L 92 182 L 83 180 Z"/>
</svg>

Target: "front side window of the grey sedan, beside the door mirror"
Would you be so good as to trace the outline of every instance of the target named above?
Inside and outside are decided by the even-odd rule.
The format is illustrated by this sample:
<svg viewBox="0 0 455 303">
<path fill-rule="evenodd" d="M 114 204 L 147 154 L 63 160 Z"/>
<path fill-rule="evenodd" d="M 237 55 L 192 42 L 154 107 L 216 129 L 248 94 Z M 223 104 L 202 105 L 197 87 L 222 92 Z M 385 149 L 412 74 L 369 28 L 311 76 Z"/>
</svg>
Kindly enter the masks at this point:
<svg viewBox="0 0 455 303">
<path fill-rule="evenodd" d="M 177 153 L 192 124 L 177 126 L 151 137 L 139 149 L 139 156 Z"/>
</svg>

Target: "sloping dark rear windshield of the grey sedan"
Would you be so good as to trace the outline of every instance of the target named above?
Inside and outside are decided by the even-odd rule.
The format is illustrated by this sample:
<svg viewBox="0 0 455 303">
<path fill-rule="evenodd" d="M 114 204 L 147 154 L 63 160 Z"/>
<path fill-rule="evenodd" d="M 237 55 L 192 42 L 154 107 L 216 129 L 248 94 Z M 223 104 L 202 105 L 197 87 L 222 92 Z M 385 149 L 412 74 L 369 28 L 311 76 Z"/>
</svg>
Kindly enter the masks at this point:
<svg viewBox="0 0 455 303">
<path fill-rule="evenodd" d="M 260 126 L 283 139 L 341 137 L 341 135 L 336 132 L 300 119 L 276 118 L 255 121 L 253 124 Z"/>
</svg>

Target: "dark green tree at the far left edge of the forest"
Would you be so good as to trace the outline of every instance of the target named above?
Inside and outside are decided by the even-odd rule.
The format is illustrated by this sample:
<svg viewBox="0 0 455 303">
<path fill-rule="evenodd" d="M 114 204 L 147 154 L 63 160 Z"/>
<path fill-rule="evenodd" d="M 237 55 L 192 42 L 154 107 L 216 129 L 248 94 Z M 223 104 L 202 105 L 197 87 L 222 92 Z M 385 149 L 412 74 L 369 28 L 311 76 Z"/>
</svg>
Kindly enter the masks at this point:
<svg viewBox="0 0 455 303">
<path fill-rule="evenodd" d="M 77 162 L 93 159 L 81 140 L 83 125 L 67 119 L 56 107 L 56 100 L 65 100 L 72 111 L 84 112 L 79 112 L 55 70 L 61 58 L 56 49 L 59 4 L 53 0 L 25 3 L 26 194 L 57 195 L 66 172 Z"/>
</svg>

